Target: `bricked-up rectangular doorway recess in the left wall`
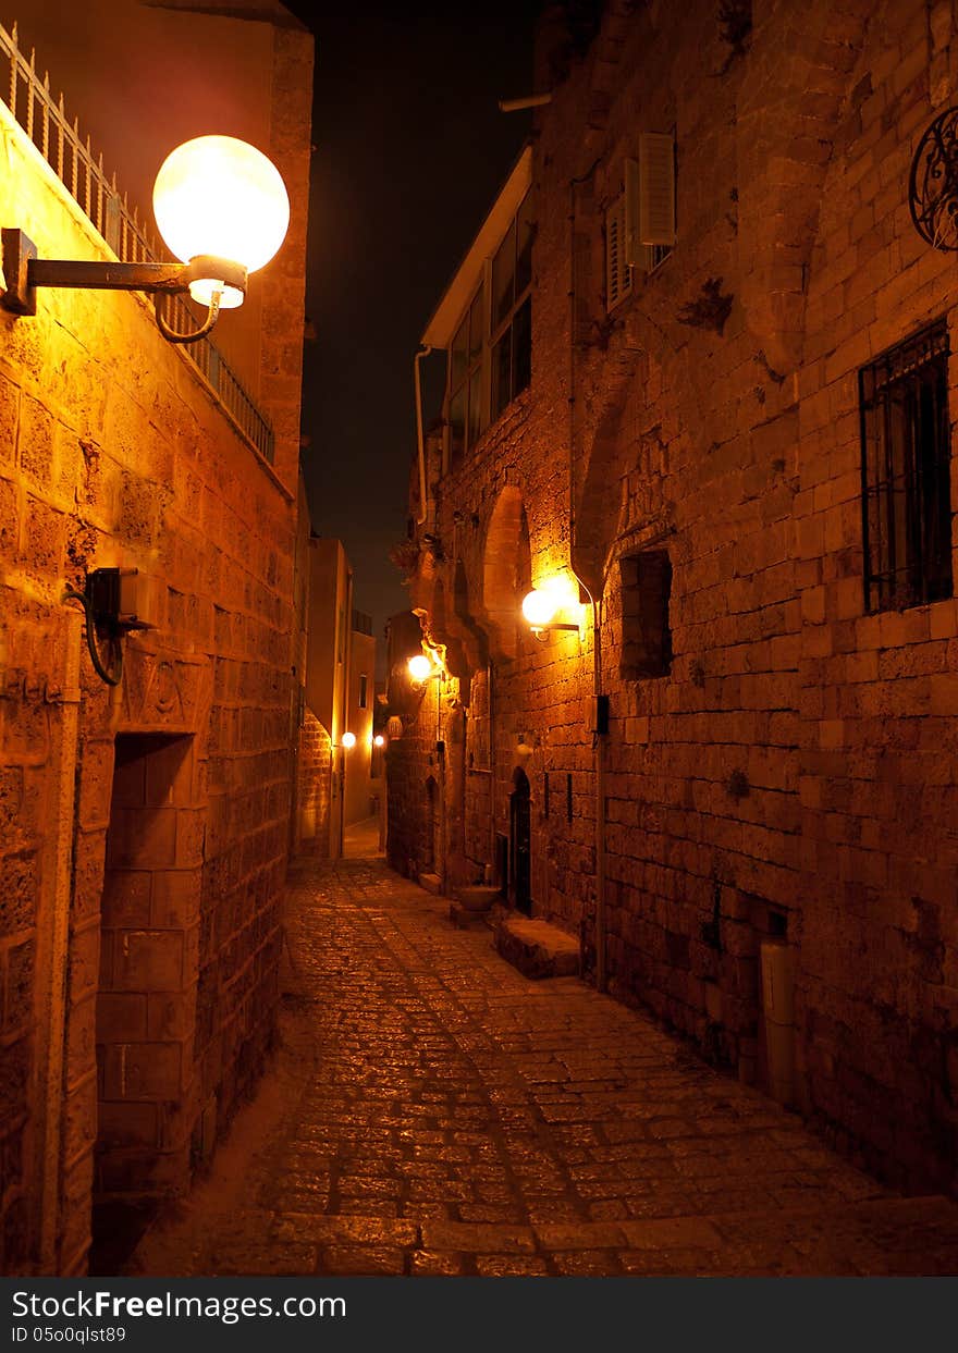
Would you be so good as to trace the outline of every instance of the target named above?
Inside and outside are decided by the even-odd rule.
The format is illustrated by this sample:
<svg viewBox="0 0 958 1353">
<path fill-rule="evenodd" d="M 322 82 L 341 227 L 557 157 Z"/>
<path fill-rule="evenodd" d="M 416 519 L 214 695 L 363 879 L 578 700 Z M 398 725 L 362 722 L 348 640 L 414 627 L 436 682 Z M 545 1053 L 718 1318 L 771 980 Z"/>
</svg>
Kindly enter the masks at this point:
<svg viewBox="0 0 958 1353">
<path fill-rule="evenodd" d="M 192 1030 L 204 810 L 192 736 L 116 737 L 96 1007 L 97 1211 L 179 1193 L 196 1119 Z"/>
</svg>

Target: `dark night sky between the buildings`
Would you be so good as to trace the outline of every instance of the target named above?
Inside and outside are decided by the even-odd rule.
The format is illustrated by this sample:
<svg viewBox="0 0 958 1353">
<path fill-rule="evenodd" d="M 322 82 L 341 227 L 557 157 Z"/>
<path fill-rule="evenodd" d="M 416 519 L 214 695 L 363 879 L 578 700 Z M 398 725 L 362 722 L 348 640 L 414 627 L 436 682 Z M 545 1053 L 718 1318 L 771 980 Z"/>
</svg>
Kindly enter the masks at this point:
<svg viewBox="0 0 958 1353">
<path fill-rule="evenodd" d="M 287 4 L 315 34 L 303 467 L 313 529 L 344 541 L 382 635 L 409 605 L 387 556 L 406 533 L 413 357 L 529 133 L 497 100 L 532 93 L 539 4 Z"/>
</svg>

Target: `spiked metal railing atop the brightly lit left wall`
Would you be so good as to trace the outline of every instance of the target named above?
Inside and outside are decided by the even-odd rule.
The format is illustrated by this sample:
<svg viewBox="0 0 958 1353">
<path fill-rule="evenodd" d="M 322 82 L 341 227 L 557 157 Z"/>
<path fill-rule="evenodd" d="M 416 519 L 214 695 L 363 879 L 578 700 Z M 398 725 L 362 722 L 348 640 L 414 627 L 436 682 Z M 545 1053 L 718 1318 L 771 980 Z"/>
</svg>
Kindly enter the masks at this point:
<svg viewBox="0 0 958 1353">
<path fill-rule="evenodd" d="M 49 74 L 41 80 L 37 73 L 34 51 L 27 61 L 20 50 L 16 24 L 12 32 L 0 24 L 0 53 L 9 61 L 9 78 L 0 97 L 116 257 L 122 262 L 162 261 L 162 250 L 146 221 L 127 203 L 126 193 L 120 195 L 116 175 L 106 173 L 103 156 L 93 153 L 89 137 L 81 137 L 77 119 L 69 122 L 62 93 L 54 100 Z M 179 296 L 165 298 L 164 311 L 177 333 L 196 327 L 195 315 Z M 183 352 L 219 398 L 230 421 L 272 465 L 273 430 L 222 353 L 208 338 L 189 344 Z"/>
</svg>

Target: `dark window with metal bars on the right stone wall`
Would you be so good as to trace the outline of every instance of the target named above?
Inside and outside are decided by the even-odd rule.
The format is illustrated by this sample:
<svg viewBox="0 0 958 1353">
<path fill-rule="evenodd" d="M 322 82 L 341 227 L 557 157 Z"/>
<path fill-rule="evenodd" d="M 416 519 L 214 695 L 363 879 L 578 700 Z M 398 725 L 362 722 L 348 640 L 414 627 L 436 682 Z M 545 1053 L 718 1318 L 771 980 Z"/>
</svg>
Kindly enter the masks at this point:
<svg viewBox="0 0 958 1353">
<path fill-rule="evenodd" d="M 944 323 L 859 372 L 867 610 L 951 595 L 947 376 Z"/>
</svg>

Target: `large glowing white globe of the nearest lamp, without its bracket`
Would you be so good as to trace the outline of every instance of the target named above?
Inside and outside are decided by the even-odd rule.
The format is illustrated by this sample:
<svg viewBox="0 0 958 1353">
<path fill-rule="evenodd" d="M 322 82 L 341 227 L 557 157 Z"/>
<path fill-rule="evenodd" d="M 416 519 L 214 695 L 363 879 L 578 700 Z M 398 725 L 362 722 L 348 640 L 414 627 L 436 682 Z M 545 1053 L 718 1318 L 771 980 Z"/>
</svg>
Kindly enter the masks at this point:
<svg viewBox="0 0 958 1353">
<path fill-rule="evenodd" d="M 153 188 L 153 212 L 175 257 L 223 258 L 256 272 L 273 257 L 290 225 L 290 199 L 279 170 L 254 146 L 235 137 L 196 137 L 164 160 Z M 193 300 L 208 306 L 222 291 L 225 310 L 244 294 L 222 279 L 189 284 Z"/>
</svg>

